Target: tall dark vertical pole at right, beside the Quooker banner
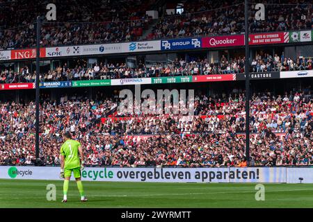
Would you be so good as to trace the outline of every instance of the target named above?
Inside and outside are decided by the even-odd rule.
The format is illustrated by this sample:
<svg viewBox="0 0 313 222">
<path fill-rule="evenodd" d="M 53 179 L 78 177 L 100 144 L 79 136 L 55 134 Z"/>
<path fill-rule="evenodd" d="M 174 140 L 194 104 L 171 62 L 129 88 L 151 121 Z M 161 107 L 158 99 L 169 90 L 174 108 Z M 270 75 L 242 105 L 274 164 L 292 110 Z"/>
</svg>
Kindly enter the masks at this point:
<svg viewBox="0 0 313 222">
<path fill-rule="evenodd" d="M 250 163 L 250 74 L 249 74 L 249 26 L 248 0 L 245 0 L 245 75 L 246 75 L 246 159 Z"/>
</svg>

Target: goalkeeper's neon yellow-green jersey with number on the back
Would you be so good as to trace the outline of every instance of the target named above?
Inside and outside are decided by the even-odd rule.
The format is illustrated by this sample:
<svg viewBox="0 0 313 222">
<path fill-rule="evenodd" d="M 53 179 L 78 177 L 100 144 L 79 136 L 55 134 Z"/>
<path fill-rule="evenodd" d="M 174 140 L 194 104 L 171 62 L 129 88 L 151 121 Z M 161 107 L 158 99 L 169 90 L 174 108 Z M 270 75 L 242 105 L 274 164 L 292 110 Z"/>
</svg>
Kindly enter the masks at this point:
<svg viewBox="0 0 313 222">
<path fill-rule="evenodd" d="M 81 143 L 73 139 L 67 139 L 61 146 L 60 154 L 64 155 L 65 160 L 64 169 L 74 169 L 81 166 L 79 146 Z"/>
</svg>

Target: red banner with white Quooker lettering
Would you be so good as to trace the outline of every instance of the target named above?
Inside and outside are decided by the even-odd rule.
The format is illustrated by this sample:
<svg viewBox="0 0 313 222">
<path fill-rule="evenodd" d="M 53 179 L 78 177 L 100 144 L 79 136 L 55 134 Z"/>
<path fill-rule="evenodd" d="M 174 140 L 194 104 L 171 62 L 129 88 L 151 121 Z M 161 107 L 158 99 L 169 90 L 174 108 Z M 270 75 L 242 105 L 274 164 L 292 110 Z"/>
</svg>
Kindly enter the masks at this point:
<svg viewBox="0 0 313 222">
<path fill-rule="evenodd" d="M 245 44 L 244 35 L 202 37 L 203 48 L 243 46 L 244 44 Z"/>
</svg>

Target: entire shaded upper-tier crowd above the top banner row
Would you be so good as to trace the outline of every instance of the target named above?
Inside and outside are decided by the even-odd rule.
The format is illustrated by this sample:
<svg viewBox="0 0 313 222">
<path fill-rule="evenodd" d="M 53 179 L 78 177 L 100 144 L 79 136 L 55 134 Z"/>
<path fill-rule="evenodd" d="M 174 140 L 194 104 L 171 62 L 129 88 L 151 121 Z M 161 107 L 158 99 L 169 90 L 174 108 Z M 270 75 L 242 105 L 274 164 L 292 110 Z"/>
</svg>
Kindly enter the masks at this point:
<svg viewBox="0 0 313 222">
<path fill-rule="evenodd" d="M 29 4 L 28 1 L 1 1 L 0 49 L 32 48 L 35 46 L 35 18 L 47 13 L 49 1 Z M 101 0 L 55 1 L 57 21 L 44 22 L 42 46 L 128 42 L 141 39 L 234 34 L 244 31 L 243 2 L 186 1 L 184 12 L 162 15 L 154 23 L 145 12 L 154 1 Z M 250 10 L 250 33 L 287 31 L 312 28 L 310 1 L 287 1 L 284 6 L 264 2 L 266 19 L 256 21 Z M 140 11 L 138 11 L 140 9 Z M 16 24 L 20 24 L 16 27 Z M 143 35 L 144 31 L 147 37 Z"/>
</svg>

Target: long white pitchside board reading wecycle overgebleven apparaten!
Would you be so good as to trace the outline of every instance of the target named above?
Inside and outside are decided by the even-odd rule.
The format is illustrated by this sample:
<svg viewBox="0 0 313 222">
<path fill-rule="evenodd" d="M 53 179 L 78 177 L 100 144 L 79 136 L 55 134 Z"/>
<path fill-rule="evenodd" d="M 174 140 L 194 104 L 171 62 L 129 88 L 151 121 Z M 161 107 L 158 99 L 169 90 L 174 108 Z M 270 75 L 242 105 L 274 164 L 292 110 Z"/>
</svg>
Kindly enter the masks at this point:
<svg viewBox="0 0 313 222">
<path fill-rule="evenodd" d="M 1 179 L 61 180 L 60 167 L 0 167 Z M 83 180 L 111 182 L 313 183 L 313 167 L 121 168 L 86 167 Z"/>
</svg>

